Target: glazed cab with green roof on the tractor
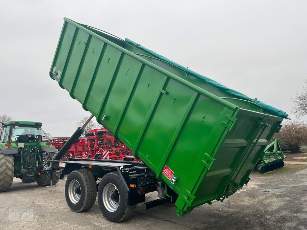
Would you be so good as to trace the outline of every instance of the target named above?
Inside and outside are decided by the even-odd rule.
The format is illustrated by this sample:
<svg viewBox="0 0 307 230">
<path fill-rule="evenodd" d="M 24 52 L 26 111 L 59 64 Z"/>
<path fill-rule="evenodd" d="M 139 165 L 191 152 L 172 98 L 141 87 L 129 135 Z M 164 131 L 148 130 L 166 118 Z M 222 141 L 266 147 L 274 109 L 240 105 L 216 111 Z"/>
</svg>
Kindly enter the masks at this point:
<svg viewBox="0 0 307 230">
<path fill-rule="evenodd" d="M 2 124 L 0 131 L 1 143 L 26 143 L 42 142 L 42 137 L 46 136 L 42 130 L 41 122 L 35 121 L 8 121 Z"/>
</svg>

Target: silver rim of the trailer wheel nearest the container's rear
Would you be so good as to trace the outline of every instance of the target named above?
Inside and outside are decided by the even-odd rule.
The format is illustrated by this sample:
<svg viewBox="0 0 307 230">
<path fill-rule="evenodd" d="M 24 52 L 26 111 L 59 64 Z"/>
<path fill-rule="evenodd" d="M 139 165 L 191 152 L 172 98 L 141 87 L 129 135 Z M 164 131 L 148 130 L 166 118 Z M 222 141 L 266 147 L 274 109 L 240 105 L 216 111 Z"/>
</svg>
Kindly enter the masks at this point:
<svg viewBox="0 0 307 230">
<path fill-rule="evenodd" d="M 103 204 L 109 212 L 115 212 L 119 207 L 119 192 L 114 184 L 107 184 L 102 191 Z"/>
</svg>

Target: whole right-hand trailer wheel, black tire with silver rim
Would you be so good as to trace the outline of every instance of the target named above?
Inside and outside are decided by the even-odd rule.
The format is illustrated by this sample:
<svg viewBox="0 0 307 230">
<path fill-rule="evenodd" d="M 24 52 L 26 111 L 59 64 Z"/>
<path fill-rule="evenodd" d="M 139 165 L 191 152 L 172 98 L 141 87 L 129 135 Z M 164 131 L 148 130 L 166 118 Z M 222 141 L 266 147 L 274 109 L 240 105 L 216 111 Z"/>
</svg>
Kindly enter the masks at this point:
<svg viewBox="0 0 307 230">
<path fill-rule="evenodd" d="M 129 219 L 137 205 L 128 206 L 128 190 L 118 172 L 106 174 L 98 186 L 98 204 L 103 216 L 112 222 Z"/>
</svg>

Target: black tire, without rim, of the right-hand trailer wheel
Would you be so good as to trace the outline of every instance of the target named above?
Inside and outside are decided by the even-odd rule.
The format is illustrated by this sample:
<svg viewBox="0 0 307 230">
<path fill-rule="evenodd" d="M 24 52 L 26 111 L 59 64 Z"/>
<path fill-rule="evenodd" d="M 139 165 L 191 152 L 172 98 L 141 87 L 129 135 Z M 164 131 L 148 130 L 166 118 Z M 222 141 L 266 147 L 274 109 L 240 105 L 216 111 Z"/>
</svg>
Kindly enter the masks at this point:
<svg viewBox="0 0 307 230">
<path fill-rule="evenodd" d="M 105 202 L 103 201 L 103 190 L 109 184 L 113 184 L 117 189 L 117 193 L 119 194 L 119 205 L 113 212 L 107 210 Z M 98 186 L 98 204 L 103 216 L 107 220 L 115 223 L 129 219 L 134 214 L 137 207 L 137 205 L 127 205 L 128 190 L 118 172 L 108 173 L 101 179 Z"/>
</svg>

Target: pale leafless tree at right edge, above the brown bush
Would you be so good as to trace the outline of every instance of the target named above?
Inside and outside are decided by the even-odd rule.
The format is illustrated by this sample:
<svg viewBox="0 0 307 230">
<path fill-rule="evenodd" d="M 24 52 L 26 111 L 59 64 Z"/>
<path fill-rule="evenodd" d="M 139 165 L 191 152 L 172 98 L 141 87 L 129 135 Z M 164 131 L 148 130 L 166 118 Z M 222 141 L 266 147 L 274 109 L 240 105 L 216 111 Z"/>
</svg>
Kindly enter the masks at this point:
<svg viewBox="0 0 307 230">
<path fill-rule="evenodd" d="M 301 93 L 296 91 L 295 97 L 291 97 L 294 103 L 293 112 L 297 117 L 302 117 L 307 115 L 307 79 L 304 80 L 304 85 Z"/>
</svg>

